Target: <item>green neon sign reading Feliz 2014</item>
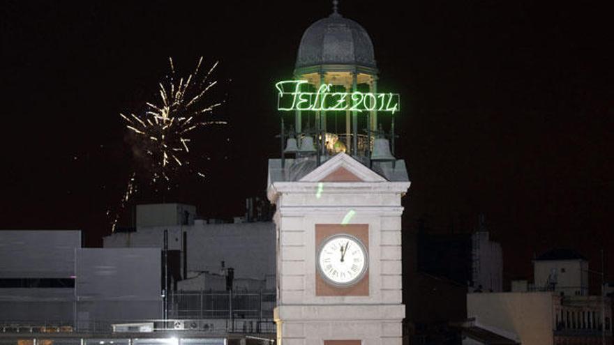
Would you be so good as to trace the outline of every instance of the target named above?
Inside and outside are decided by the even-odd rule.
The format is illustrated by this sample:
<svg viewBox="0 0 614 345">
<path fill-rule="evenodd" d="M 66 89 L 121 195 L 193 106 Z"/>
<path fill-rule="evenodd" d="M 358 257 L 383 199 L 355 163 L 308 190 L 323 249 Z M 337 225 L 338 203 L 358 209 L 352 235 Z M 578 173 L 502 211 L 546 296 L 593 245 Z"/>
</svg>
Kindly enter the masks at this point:
<svg viewBox="0 0 614 345">
<path fill-rule="evenodd" d="M 350 112 L 398 112 L 398 93 L 372 93 L 372 92 L 331 92 L 332 84 L 322 84 L 317 92 L 303 92 L 301 85 L 306 80 L 284 80 L 275 84 L 279 91 L 277 109 L 282 112 L 324 111 L 336 112 L 350 110 Z"/>
</svg>

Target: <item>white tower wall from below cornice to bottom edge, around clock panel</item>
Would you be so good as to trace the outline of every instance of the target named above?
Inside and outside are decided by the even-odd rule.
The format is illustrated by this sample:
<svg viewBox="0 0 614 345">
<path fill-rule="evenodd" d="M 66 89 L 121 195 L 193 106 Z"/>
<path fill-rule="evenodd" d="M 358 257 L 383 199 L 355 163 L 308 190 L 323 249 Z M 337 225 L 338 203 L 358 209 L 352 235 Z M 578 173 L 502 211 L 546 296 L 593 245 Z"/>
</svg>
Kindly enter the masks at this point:
<svg viewBox="0 0 614 345">
<path fill-rule="evenodd" d="M 322 345 L 322 339 L 361 339 L 363 345 L 400 344 L 400 321 L 405 317 L 401 304 L 400 194 L 390 199 L 381 194 L 357 196 L 357 200 L 373 201 L 377 205 L 372 204 L 373 208 L 318 208 L 320 202 L 334 204 L 331 201 L 338 195 L 316 199 L 315 193 L 310 194 L 299 201 L 307 207 L 294 204 L 296 201 L 285 194 L 278 200 L 280 273 L 275 319 L 281 321 L 278 325 L 283 344 Z M 290 212 L 284 215 L 284 210 Z M 350 210 L 356 212 L 350 224 L 369 225 L 370 294 L 316 296 L 315 224 L 340 224 Z"/>
</svg>

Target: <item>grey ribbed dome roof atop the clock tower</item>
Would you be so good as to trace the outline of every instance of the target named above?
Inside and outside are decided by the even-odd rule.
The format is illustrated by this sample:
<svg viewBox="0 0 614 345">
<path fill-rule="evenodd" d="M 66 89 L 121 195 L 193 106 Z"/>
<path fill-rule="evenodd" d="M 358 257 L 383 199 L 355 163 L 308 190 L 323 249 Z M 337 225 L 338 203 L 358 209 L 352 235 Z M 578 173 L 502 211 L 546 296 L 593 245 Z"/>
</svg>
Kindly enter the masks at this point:
<svg viewBox="0 0 614 345">
<path fill-rule="evenodd" d="M 296 70 L 318 65 L 357 65 L 376 69 L 373 43 L 357 22 L 333 13 L 303 33 Z"/>
</svg>

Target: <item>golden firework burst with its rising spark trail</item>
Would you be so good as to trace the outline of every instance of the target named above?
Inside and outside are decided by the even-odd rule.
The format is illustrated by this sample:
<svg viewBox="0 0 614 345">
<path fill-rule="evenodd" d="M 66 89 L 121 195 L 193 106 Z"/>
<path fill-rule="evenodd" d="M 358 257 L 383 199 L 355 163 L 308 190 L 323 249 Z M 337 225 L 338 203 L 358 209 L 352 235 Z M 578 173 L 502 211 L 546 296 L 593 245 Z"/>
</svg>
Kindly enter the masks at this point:
<svg viewBox="0 0 614 345">
<path fill-rule="evenodd" d="M 201 56 L 194 72 L 188 77 L 177 79 L 174 63 L 172 58 L 169 58 L 170 75 L 158 84 L 158 102 L 146 102 L 147 110 L 142 115 L 119 114 L 125 121 L 126 128 L 140 139 L 137 145 L 153 161 L 151 174 L 147 176 L 151 184 L 156 181 L 170 182 L 173 171 L 189 166 L 189 144 L 194 141 L 194 138 L 188 137 L 190 132 L 199 126 L 225 124 L 225 121 L 204 121 L 204 115 L 212 112 L 221 103 L 202 105 L 203 96 L 217 84 L 216 81 L 209 81 L 209 77 L 218 66 L 218 62 L 214 63 L 209 71 L 200 77 L 202 59 Z M 200 171 L 191 171 L 191 168 L 190 172 L 202 178 L 205 176 Z M 135 192 L 136 184 L 137 176 L 133 172 L 121 200 L 120 211 Z M 118 220 L 119 212 L 112 220 L 112 231 L 115 230 Z"/>
</svg>

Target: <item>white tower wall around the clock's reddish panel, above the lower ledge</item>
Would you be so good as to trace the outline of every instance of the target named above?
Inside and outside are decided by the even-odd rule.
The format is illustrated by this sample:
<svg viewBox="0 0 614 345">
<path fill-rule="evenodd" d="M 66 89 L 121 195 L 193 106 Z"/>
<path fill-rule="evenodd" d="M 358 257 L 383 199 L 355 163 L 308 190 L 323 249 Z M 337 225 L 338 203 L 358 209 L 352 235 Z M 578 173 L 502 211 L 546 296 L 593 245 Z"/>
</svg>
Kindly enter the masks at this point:
<svg viewBox="0 0 614 345">
<path fill-rule="evenodd" d="M 367 196 L 363 196 L 364 199 Z M 397 197 L 400 201 L 400 197 Z M 313 198 L 315 199 L 315 197 Z M 322 197 L 322 199 L 328 199 Z M 327 202 L 324 200 L 323 202 Z M 280 207 L 295 208 L 282 201 Z M 315 294 L 315 224 L 340 224 L 350 211 L 343 209 L 297 208 L 302 217 L 282 217 L 280 220 L 279 302 L 282 305 L 331 304 L 355 302 L 361 304 L 399 304 L 401 302 L 400 209 L 355 209 L 350 224 L 368 224 L 369 229 L 369 296 L 316 296 Z M 398 213 L 398 215 L 394 215 Z M 383 240 L 383 243 L 382 243 Z"/>
</svg>

